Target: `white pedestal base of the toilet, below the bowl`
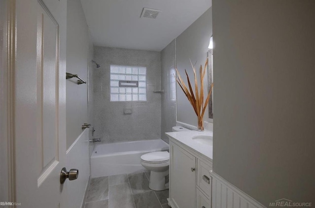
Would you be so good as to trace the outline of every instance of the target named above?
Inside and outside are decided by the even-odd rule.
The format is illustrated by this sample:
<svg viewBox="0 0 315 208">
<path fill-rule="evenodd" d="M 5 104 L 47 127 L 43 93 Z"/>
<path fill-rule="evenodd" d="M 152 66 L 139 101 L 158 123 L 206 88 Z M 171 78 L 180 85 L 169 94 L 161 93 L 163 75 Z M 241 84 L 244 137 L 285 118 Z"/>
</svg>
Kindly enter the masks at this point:
<svg viewBox="0 0 315 208">
<path fill-rule="evenodd" d="M 164 172 L 151 171 L 149 188 L 154 191 L 163 191 L 168 189 L 168 183 L 165 184 L 165 177 L 168 175 L 168 170 Z"/>
</svg>

